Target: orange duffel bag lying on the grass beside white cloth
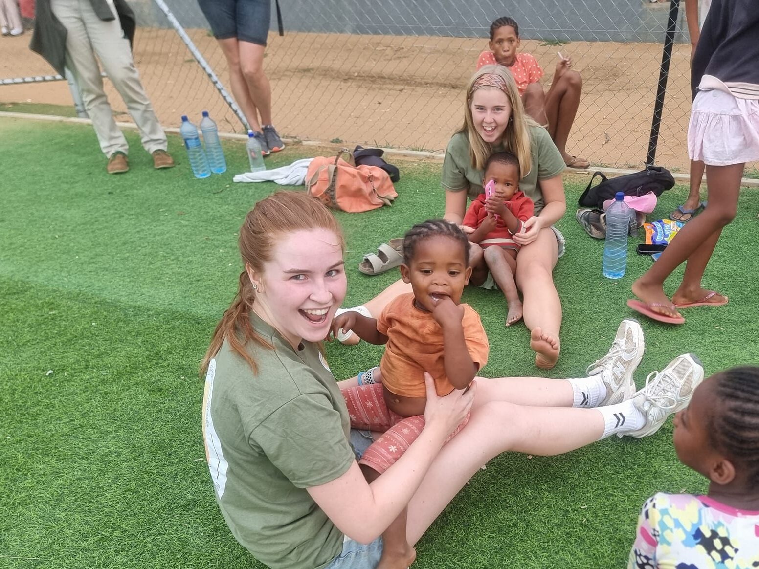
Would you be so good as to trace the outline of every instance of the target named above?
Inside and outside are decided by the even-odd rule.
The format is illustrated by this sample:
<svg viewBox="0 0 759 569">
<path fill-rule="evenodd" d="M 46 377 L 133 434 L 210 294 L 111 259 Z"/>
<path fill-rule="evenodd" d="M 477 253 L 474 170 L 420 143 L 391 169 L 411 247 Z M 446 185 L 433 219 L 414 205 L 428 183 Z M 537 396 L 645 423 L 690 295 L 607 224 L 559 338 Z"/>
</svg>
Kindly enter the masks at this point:
<svg viewBox="0 0 759 569">
<path fill-rule="evenodd" d="M 351 162 L 343 160 L 343 154 L 347 154 Z M 354 166 L 352 162 L 353 156 L 347 148 L 335 158 L 313 159 L 306 172 L 308 195 L 333 209 L 351 213 L 392 205 L 398 193 L 388 173 L 377 166 Z"/>
</svg>

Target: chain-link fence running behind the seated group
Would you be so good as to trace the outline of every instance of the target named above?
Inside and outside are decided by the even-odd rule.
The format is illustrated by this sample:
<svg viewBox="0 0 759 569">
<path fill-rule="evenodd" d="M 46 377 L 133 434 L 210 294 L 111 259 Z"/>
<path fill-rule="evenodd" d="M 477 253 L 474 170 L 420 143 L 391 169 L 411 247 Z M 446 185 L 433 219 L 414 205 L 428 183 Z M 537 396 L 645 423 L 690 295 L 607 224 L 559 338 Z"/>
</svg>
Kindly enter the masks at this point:
<svg viewBox="0 0 759 569">
<path fill-rule="evenodd" d="M 222 131 L 242 132 L 228 107 L 152 0 L 137 13 L 134 59 L 159 120 L 208 110 Z M 229 90 L 225 58 L 197 2 L 168 0 L 198 51 Z M 571 55 L 583 93 L 567 148 L 593 165 L 640 168 L 646 157 L 669 1 L 281 0 L 285 36 L 272 9 L 264 68 L 274 124 L 285 137 L 440 152 L 463 121 L 465 86 L 487 49 L 490 22 L 508 15 L 521 52 L 537 58 L 547 90 L 558 56 Z M 690 44 L 682 10 L 672 52 L 657 164 L 687 171 Z M 0 41 L 0 54 L 6 39 Z M 36 55 L 5 58 L 5 77 L 49 74 Z M 28 86 L 27 90 L 30 89 Z M 0 100 L 24 100 L 0 86 Z M 14 99 L 14 90 L 20 96 Z M 58 101 L 52 101 L 58 92 Z M 48 93 L 49 92 L 49 93 Z M 68 87 L 44 83 L 33 100 L 71 104 Z M 109 100 L 129 120 L 118 93 Z M 28 98 L 28 97 L 27 97 Z M 752 165 L 752 167 L 755 165 Z"/>
</svg>

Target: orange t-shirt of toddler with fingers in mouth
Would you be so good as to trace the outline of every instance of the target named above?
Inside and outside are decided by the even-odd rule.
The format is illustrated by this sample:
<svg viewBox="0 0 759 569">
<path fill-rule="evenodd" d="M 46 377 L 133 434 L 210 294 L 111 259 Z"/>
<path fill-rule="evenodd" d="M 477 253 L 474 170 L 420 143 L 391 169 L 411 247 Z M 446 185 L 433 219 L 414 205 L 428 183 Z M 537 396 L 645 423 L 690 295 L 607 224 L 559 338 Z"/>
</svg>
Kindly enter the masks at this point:
<svg viewBox="0 0 759 569">
<path fill-rule="evenodd" d="M 487 363 L 490 345 L 480 315 L 468 304 L 461 327 L 467 351 L 477 369 Z M 414 294 L 402 294 L 387 305 L 377 320 L 377 330 L 387 336 L 385 354 L 379 363 L 383 385 L 395 395 L 427 397 L 424 372 L 435 380 L 437 395 L 448 395 L 454 387 L 443 363 L 442 326 L 432 313 L 414 306 Z"/>
</svg>

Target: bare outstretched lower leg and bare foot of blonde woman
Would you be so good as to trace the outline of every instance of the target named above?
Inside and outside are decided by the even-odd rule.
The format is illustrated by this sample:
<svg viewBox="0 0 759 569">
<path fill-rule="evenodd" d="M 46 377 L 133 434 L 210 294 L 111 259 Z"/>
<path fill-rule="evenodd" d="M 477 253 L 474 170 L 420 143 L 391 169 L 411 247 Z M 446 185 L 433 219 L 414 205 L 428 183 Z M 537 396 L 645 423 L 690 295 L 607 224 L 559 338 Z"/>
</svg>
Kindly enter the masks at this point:
<svg viewBox="0 0 759 569">
<path fill-rule="evenodd" d="M 535 365 L 550 369 L 559 359 L 562 303 L 553 285 L 553 267 L 559 258 L 556 234 L 543 228 L 517 255 L 516 282 L 522 293 L 524 324 L 531 330 Z"/>
</svg>

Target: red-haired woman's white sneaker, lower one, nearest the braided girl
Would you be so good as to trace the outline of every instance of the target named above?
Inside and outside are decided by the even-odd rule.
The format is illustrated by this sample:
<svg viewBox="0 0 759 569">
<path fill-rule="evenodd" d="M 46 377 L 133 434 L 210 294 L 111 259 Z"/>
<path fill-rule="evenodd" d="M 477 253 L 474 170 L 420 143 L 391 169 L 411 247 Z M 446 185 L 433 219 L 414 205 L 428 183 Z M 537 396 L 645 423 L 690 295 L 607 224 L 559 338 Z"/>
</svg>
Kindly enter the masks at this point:
<svg viewBox="0 0 759 569">
<path fill-rule="evenodd" d="M 688 406 L 693 391 L 702 381 L 704 366 L 694 354 L 678 356 L 660 372 L 649 373 L 645 387 L 637 391 L 632 400 L 643 413 L 646 424 L 637 431 L 618 433 L 617 436 L 653 435 L 669 415 Z"/>
</svg>

